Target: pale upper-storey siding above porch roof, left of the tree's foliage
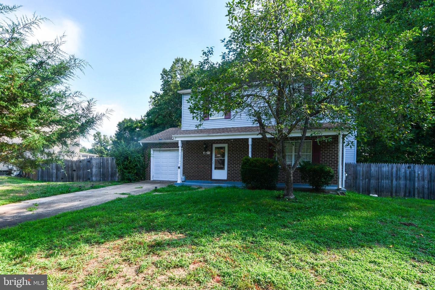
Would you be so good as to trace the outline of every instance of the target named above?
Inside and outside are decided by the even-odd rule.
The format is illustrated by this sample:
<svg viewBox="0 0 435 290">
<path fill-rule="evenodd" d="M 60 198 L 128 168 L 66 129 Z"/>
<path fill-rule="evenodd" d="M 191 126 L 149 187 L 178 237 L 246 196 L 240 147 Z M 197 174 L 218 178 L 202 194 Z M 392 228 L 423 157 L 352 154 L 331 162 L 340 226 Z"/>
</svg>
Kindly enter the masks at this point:
<svg viewBox="0 0 435 290">
<path fill-rule="evenodd" d="M 182 118 L 181 118 L 181 129 L 182 130 L 193 130 L 197 129 L 199 124 L 198 120 L 192 119 L 192 114 L 189 111 L 189 103 L 187 99 L 190 97 L 189 94 L 183 95 L 183 107 L 182 107 Z M 255 126 L 253 120 L 246 115 L 246 113 L 239 113 L 236 117 L 231 119 L 210 119 L 204 120 L 201 128 L 211 129 L 211 128 L 226 128 L 226 127 L 248 127 Z"/>
</svg>

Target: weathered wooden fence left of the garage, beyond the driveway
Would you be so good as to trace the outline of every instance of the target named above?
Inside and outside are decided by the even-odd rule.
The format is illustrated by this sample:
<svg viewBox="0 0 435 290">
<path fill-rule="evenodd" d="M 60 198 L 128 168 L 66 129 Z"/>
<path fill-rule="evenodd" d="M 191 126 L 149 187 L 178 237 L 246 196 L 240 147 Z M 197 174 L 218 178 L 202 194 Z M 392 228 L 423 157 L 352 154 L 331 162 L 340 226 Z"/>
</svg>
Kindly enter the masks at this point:
<svg viewBox="0 0 435 290">
<path fill-rule="evenodd" d="M 26 173 L 34 180 L 71 181 L 110 181 L 118 179 L 118 170 L 113 157 L 90 157 L 79 160 L 64 160 L 64 166 L 57 163 L 44 165 L 35 173 Z"/>
</svg>

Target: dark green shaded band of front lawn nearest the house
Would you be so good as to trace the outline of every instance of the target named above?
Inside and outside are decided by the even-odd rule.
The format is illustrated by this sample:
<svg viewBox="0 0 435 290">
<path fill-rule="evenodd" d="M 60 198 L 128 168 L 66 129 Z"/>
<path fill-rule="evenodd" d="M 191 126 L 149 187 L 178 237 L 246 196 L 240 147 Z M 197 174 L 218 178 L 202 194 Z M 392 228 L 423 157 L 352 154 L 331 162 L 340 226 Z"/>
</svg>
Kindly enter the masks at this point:
<svg viewBox="0 0 435 290">
<path fill-rule="evenodd" d="M 233 235 L 247 243 L 269 240 L 312 252 L 393 246 L 421 261 L 432 263 L 435 257 L 434 201 L 297 193 L 296 201 L 287 202 L 278 200 L 276 191 L 167 190 L 176 192 L 158 189 L 163 194 L 131 195 L 0 230 L 2 260 L 105 243 L 143 231 L 183 233 L 186 238 L 177 243 L 184 244 Z"/>
</svg>

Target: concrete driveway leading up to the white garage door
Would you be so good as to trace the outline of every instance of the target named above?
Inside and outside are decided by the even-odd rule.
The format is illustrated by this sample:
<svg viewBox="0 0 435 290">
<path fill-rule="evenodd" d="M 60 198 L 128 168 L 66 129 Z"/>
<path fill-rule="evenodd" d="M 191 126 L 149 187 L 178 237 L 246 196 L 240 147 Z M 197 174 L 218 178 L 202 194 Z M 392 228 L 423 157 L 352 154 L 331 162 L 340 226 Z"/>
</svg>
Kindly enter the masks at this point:
<svg viewBox="0 0 435 290">
<path fill-rule="evenodd" d="M 141 181 L 125 183 L 99 189 L 91 189 L 41 197 L 34 200 L 23 200 L 18 203 L 10 203 L 0 206 L 0 228 L 11 227 L 27 220 L 38 220 L 51 217 L 66 211 L 80 210 L 85 207 L 105 203 L 117 197 L 127 197 L 127 194 L 141 194 L 153 190 L 154 187 L 164 187 L 173 181 Z M 29 211 L 37 203 L 36 210 Z"/>
</svg>

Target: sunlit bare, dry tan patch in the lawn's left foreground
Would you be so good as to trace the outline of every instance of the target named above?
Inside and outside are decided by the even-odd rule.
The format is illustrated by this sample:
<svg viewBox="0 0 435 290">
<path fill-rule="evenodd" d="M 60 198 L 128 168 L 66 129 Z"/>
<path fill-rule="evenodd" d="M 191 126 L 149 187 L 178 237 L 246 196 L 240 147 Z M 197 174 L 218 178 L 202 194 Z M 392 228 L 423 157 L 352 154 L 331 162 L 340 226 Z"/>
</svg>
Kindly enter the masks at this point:
<svg viewBox="0 0 435 290">
<path fill-rule="evenodd" d="M 191 258 L 192 253 L 175 253 L 177 248 L 170 247 L 173 240 L 185 237 L 181 233 L 141 233 L 131 237 L 114 240 L 88 247 L 67 256 L 36 257 L 38 267 L 32 267 L 32 273 L 47 273 L 54 277 L 69 277 L 68 289 L 110 289 L 140 287 L 171 287 L 183 285 L 184 277 L 191 271 L 202 267 L 204 263 Z M 186 247 L 189 249 L 189 247 Z M 174 267 L 159 270 L 154 263 L 157 260 L 182 256 L 191 260 L 188 267 Z M 66 266 L 67 265 L 67 266 Z M 194 289 L 194 287 L 191 287 Z M 106 289 L 106 288 L 104 288 Z"/>
</svg>

